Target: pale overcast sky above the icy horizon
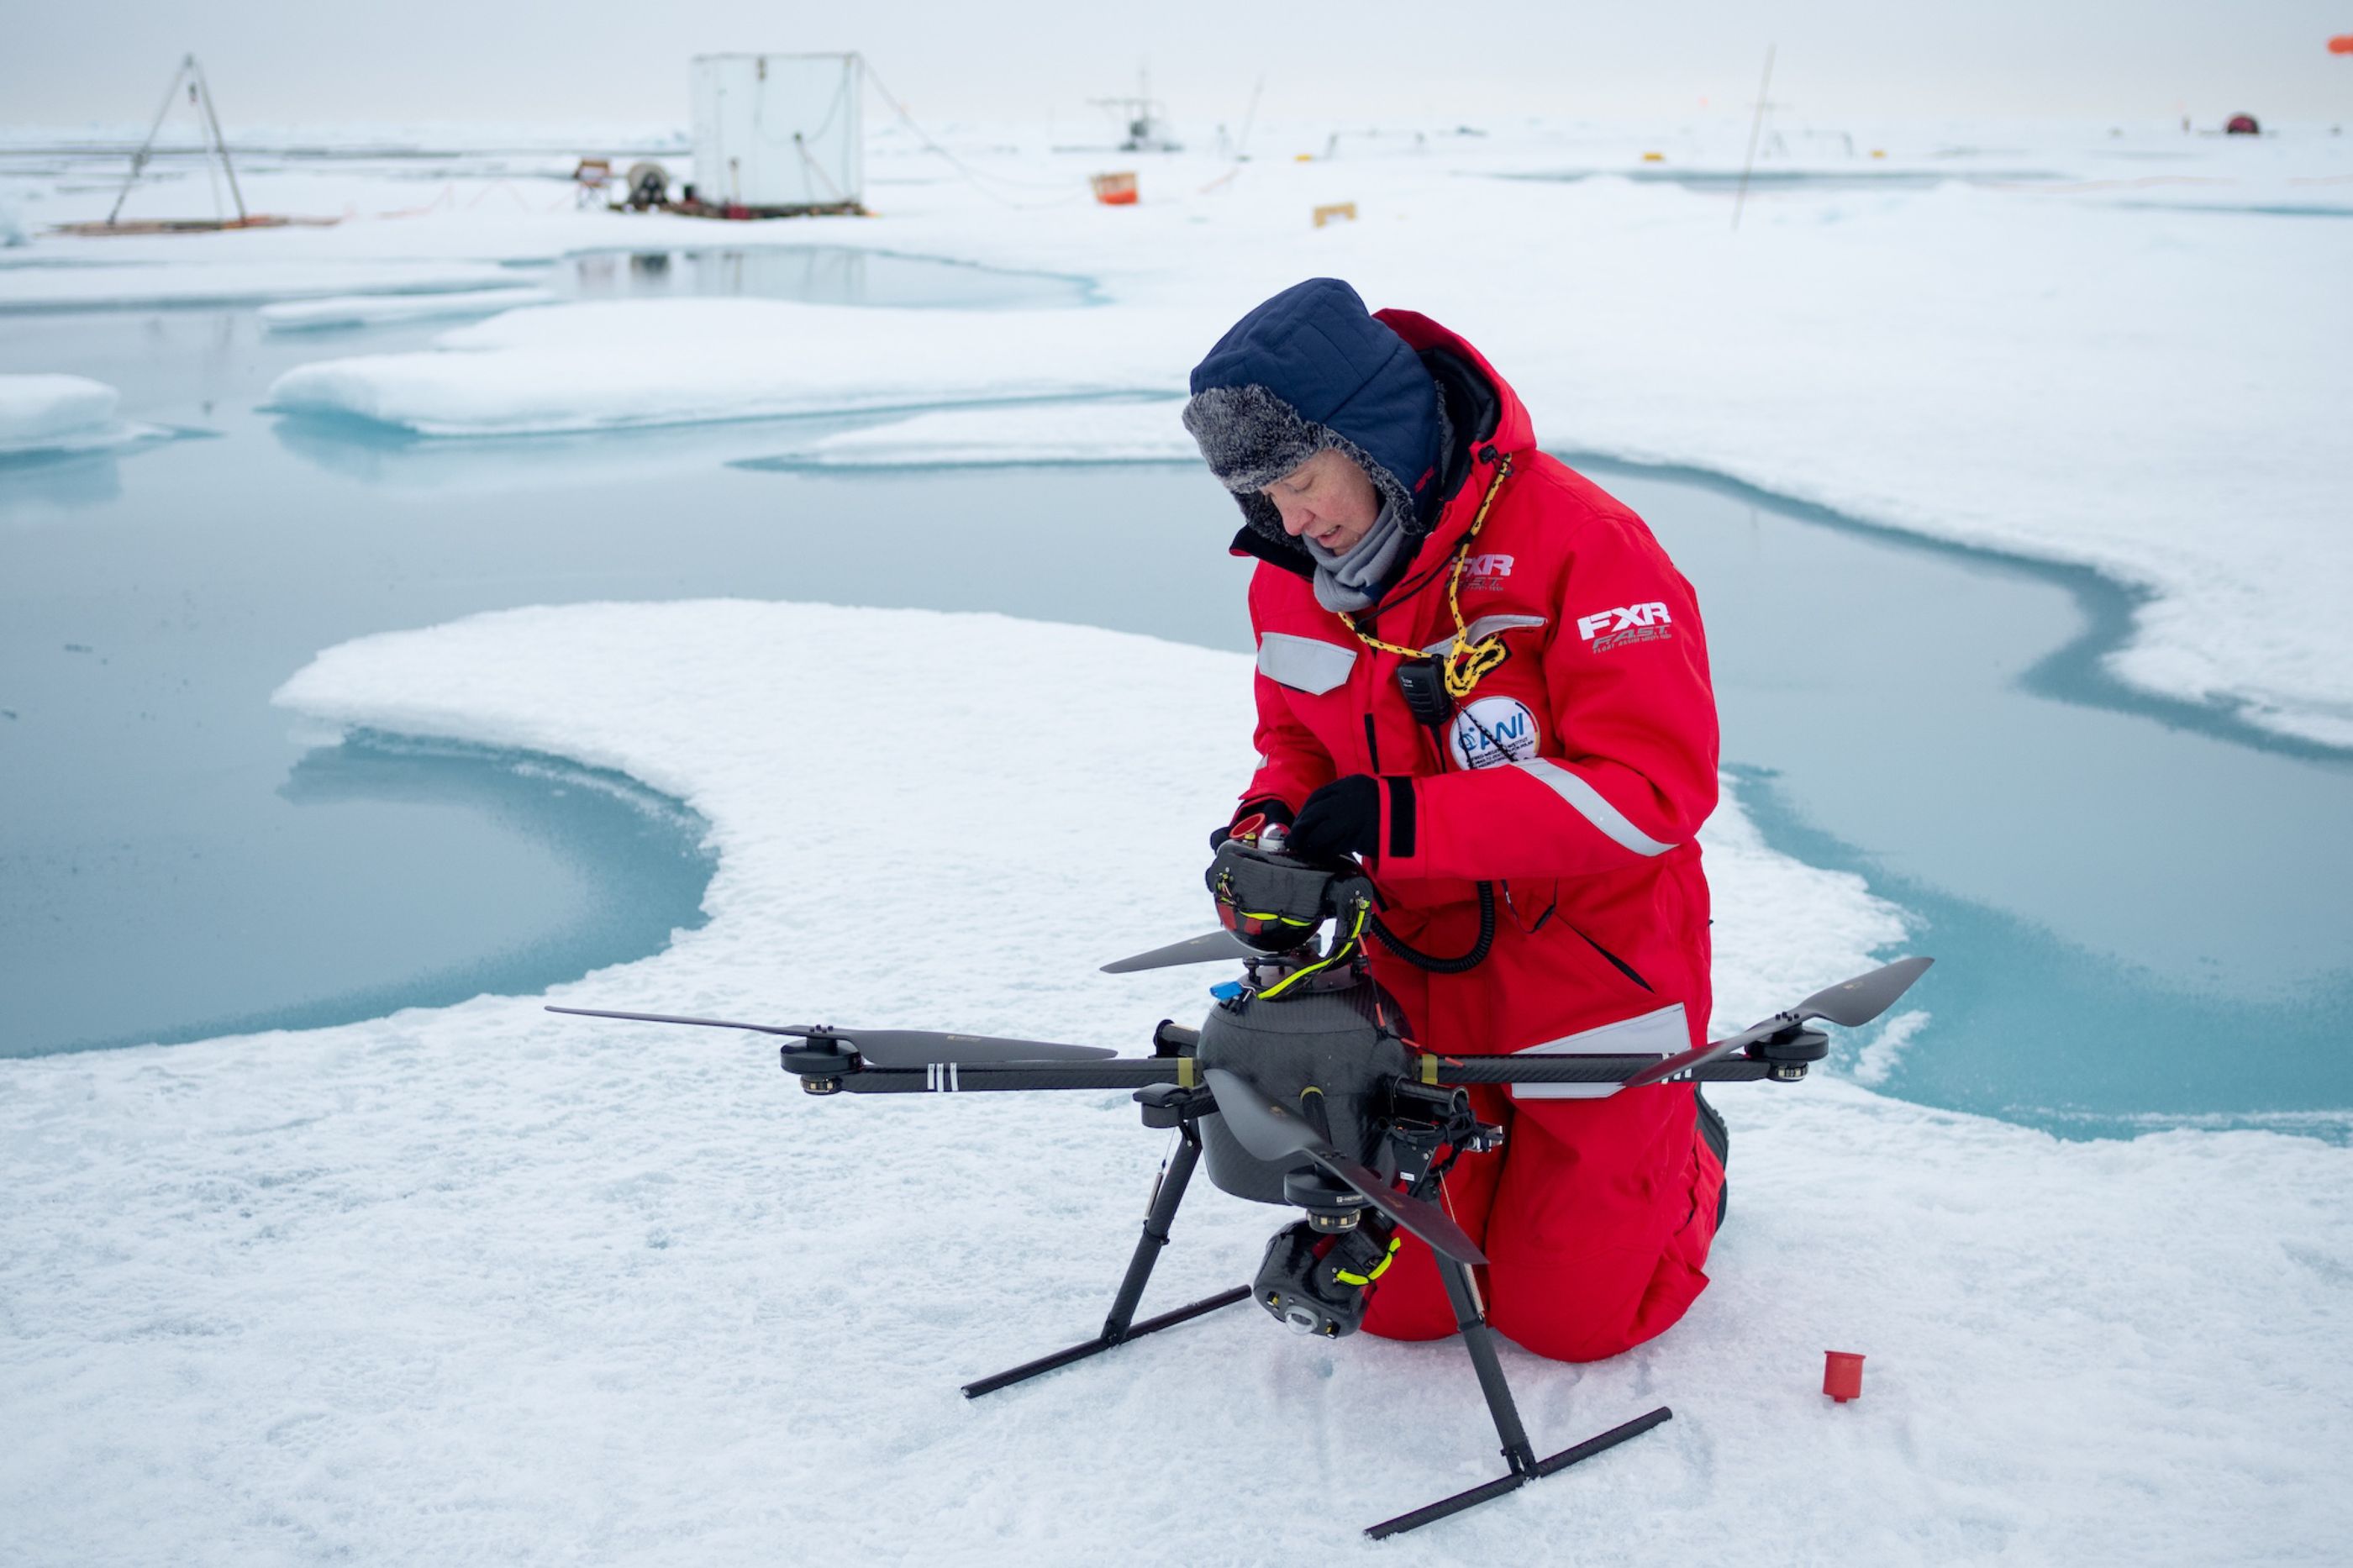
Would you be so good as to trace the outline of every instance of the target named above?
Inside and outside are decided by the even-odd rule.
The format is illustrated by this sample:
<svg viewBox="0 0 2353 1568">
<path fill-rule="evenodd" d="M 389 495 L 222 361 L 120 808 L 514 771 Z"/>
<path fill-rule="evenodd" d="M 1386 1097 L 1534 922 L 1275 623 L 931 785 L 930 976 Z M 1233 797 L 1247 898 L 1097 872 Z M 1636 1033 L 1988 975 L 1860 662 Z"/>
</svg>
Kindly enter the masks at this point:
<svg viewBox="0 0 2353 1568">
<path fill-rule="evenodd" d="M 0 125 L 153 113 L 195 49 L 233 125 L 673 122 L 704 52 L 859 49 L 922 118 L 1075 122 L 1151 64 L 1179 129 L 1261 118 L 1689 118 L 1755 97 L 1840 118 L 2353 122 L 2353 0 L 28 0 Z"/>
</svg>

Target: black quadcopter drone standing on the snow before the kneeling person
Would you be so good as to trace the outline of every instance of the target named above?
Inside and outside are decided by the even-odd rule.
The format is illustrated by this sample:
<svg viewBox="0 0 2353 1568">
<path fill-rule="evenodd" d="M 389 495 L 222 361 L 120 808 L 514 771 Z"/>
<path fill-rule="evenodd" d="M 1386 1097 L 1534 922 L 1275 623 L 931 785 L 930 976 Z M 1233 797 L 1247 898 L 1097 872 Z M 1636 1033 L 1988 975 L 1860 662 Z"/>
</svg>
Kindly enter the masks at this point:
<svg viewBox="0 0 2353 1568">
<path fill-rule="evenodd" d="M 701 1024 L 784 1036 L 784 1071 L 809 1095 L 908 1095 L 1002 1090 L 1134 1090 L 1146 1128 L 1179 1137 L 1160 1170 L 1144 1236 L 1111 1314 L 1092 1340 L 965 1384 L 967 1398 L 1099 1356 L 1221 1307 L 1257 1300 L 1315 1337 L 1353 1333 L 1365 1290 L 1388 1267 L 1398 1231 L 1431 1245 L 1438 1274 L 1504 1443 L 1506 1474 L 1367 1528 L 1374 1540 L 1447 1519 L 1558 1474 L 1671 1420 L 1666 1406 L 1574 1448 L 1539 1457 L 1520 1424 L 1473 1267 L 1487 1257 L 1442 1208 L 1447 1170 L 1464 1154 L 1501 1147 L 1504 1128 L 1473 1114 L 1473 1083 L 1586 1083 L 1631 1092 L 1654 1083 L 1795 1083 L 1828 1055 L 1826 1019 L 1854 1029 L 1880 1017 L 1929 968 L 1899 958 L 1805 998 L 1786 1012 L 1680 1055 L 1445 1057 L 1405 1034 L 1398 1003 L 1367 965 L 1365 937 L 1431 961 L 1391 937 L 1374 913 L 1372 883 L 1351 862 L 1318 864 L 1282 852 L 1278 831 L 1228 841 L 1209 871 L 1224 930 L 1136 954 L 1104 970 L 1125 975 L 1179 963 L 1242 961 L 1242 977 L 1212 989 L 1200 1029 L 1162 1019 L 1153 1055 L 1120 1057 L 1096 1045 L 1014 1041 L 929 1029 L 835 1029 L 739 1024 L 664 1012 L 548 1008 L 581 1017 Z M 1240 892 L 1238 892 L 1240 888 Z M 1482 932 L 1494 904 L 1482 885 Z M 1252 909 L 1257 904 L 1257 909 Z M 1325 921 L 1329 944 L 1320 942 Z M 1485 951 L 1485 935 L 1473 951 Z M 1144 1285 L 1198 1163 L 1209 1182 L 1254 1203 L 1306 1212 L 1278 1231 L 1249 1285 L 1136 1318 Z"/>
</svg>

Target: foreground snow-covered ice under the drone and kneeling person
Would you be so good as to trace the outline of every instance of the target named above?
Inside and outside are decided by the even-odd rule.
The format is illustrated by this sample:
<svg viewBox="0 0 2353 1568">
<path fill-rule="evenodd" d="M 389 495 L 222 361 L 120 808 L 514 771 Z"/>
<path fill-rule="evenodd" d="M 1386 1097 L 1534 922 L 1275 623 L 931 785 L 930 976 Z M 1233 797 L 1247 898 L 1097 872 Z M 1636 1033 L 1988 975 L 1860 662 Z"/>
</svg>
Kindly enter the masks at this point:
<svg viewBox="0 0 2353 1568">
<path fill-rule="evenodd" d="M 1080 678 L 1045 706 L 1007 669 Z M 1141 1050 L 1219 972 L 1094 965 L 1205 925 L 1247 671 L 1002 617 L 576 605 L 348 643 L 280 702 L 706 815 L 711 923 L 553 1001 Z M 1706 841 L 1720 1022 L 1899 944 L 1737 805 Z M 958 1394 L 1101 1323 L 1162 1151 L 1125 1095 L 821 1102 L 767 1041 L 539 1003 L 0 1064 L 0 1559 L 2320 1563 L 2353 1528 L 2353 1154 L 2318 1140 L 1727 1088 L 1689 1318 L 1588 1368 L 1506 1351 L 1544 1450 L 1675 1420 L 1372 1547 L 1499 1464 L 1459 1347 L 1235 1307 Z M 1282 1220 L 1202 1184 L 1146 1311 Z M 1824 1349 L 1868 1354 L 1861 1401 L 1819 1394 Z"/>
</svg>

